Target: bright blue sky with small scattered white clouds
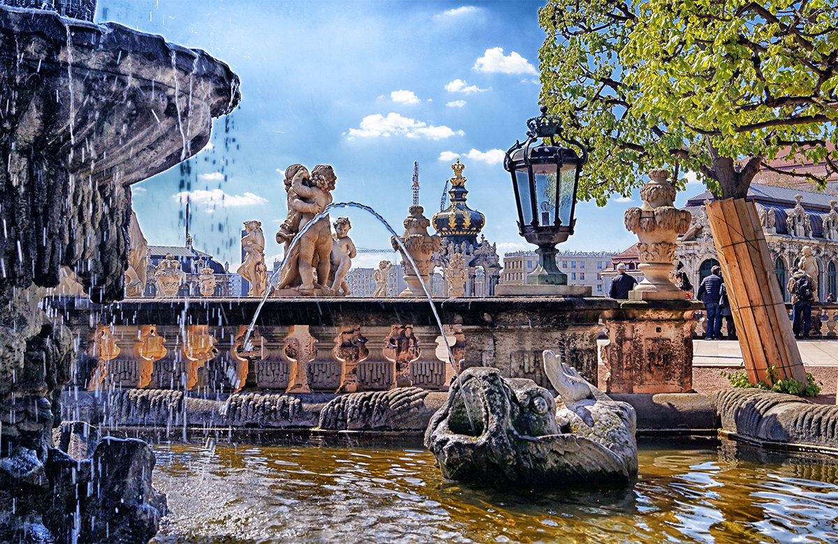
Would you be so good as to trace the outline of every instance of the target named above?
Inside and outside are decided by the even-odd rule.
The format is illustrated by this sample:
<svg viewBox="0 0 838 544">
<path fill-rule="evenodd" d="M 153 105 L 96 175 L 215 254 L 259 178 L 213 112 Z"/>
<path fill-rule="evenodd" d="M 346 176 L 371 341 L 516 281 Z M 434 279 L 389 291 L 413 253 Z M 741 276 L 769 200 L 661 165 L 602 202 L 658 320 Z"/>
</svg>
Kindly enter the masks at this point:
<svg viewBox="0 0 838 544">
<path fill-rule="evenodd" d="M 268 265 L 286 216 L 282 172 L 295 162 L 331 164 L 335 202 L 375 208 L 401 234 L 413 162 L 428 218 L 459 158 L 468 203 L 486 216 L 498 251 L 535 249 L 517 234 L 503 151 L 538 113 L 541 2 L 351 0 L 99 0 L 96 22 L 114 21 L 173 44 L 204 49 L 241 78 L 238 110 L 215 121 L 212 146 L 190 159 L 194 245 L 238 263 L 240 231 L 262 222 Z M 235 141 L 234 141 L 235 139 Z M 150 244 L 184 244 L 179 167 L 134 185 L 133 206 Z M 697 183 L 684 197 L 701 192 Z M 622 250 L 637 241 L 614 198 L 577 204 L 577 232 L 560 249 Z M 362 248 L 388 248 L 365 212 L 348 216 Z M 359 256 L 370 266 L 378 255 Z"/>
</svg>

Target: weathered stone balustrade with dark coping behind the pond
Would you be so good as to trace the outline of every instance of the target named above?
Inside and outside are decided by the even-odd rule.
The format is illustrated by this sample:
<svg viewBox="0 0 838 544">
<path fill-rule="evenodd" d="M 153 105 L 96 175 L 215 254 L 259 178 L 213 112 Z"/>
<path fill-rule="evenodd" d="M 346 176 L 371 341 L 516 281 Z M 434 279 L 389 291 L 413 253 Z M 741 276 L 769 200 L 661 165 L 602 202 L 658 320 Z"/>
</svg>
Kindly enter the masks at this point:
<svg viewBox="0 0 838 544">
<path fill-rule="evenodd" d="M 48 299 L 79 343 L 75 387 L 230 393 L 344 393 L 415 386 L 447 390 L 454 376 L 427 300 L 268 299 L 248 346 L 256 299 L 137 300 L 96 305 Z M 498 367 L 550 387 L 541 352 L 560 352 L 597 382 L 604 298 L 434 300 L 459 368 Z"/>
</svg>

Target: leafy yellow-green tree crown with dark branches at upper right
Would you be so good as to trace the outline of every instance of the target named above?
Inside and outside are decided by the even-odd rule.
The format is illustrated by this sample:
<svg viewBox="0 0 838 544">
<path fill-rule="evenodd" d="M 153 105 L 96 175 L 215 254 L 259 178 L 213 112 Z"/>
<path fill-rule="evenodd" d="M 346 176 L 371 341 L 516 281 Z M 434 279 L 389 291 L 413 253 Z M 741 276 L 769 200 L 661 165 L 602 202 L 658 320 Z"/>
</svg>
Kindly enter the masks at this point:
<svg viewBox="0 0 838 544">
<path fill-rule="evenodd" d="M 838 0 L 549 0 L 541 102 L 591 151 L 579 197 L 652 167 L 743 198 L 774 157 L 838 172 Z M 783 172 L 789 173 L 789 172 Z"/>
</svg>

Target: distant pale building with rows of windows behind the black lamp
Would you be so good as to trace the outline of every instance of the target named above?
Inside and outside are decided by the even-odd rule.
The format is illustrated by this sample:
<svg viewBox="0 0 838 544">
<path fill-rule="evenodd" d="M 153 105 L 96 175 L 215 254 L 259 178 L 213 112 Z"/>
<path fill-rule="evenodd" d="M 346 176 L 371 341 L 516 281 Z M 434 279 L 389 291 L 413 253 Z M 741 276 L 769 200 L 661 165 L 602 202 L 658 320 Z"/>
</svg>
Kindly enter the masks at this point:
<svg viewBox="0 0 838 544">
<path fill-rule="evenodd" d="M 592 295 L 608 295 L 603 272 L 616 255 L 613 252 L 561 251 L 556 254 L 556 265 L 567 275 L 567 285 L 589 285 Z M 535 251 L 515 251 L 504 254 L 503 285 L 524 285 L 526 276 L 538 265 Z"/>
</svg>

